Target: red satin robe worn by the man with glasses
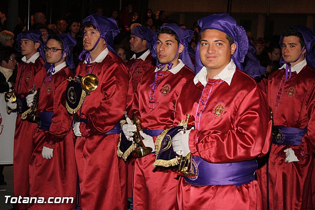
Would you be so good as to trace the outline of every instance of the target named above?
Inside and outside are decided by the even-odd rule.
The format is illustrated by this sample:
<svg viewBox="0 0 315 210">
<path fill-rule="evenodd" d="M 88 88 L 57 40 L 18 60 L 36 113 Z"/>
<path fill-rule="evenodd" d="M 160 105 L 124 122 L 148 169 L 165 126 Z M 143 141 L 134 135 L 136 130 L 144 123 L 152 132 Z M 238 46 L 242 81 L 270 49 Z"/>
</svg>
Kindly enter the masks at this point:
<svg viewBox="0 0 315 210">
<path fill-rule="evenodd" d="M 73 197 L 73 203 L 29 204 L 29 210 L 73 210 L 77 183 L 74 157 L 74 134 L 71 129 L 72 116 L 65 108 L 67 78 L 74 74 L 64 67 L 51 77 L 45 77 L 40 87 L 38 112 L 54 112 L 48 130 L 38 127 L 33 132 L 33 148 L 30 160 L 30 196 Z M 43 146 L 54 149 L 53 157 L 42 157 Z"/>
</svg>

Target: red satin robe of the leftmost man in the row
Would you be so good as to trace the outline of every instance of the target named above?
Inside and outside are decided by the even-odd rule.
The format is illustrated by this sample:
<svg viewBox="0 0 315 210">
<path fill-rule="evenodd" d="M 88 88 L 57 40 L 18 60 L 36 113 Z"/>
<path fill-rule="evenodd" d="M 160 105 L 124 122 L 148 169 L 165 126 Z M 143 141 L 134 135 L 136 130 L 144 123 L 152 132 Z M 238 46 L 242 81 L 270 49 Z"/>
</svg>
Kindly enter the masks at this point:
<svg viewBox="0 0 315 210">
<path fill-rule="evenodd" d="M 26 97 L 35 84 L 35 90 L 40 87 L 46 75 L 45 61 L 38 57 L 34 63 L 21 61 L 14 89 L 19 97 Z M 32 155 L 33 131 L 36 123 L 21 120 L 18 114 L 15 124 L 13 172 L 14 172 L 14 197 L 30 197 L 29 162 Z M 15 209 L 27 209 L 27 204 L 14 204 Z"/>
</svg>

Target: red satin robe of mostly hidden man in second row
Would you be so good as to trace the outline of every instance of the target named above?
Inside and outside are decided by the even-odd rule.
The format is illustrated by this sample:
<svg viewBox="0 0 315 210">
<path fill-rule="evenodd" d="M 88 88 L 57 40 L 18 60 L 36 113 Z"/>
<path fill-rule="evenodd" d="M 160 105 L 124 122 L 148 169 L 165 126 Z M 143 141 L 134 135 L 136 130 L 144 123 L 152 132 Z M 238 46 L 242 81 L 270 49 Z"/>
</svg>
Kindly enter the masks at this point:
<svg viewBox="0 0 315 210">
<path fill-rule="evenodd" d="M 132 88 L 137 90 L 138 84 L 144 75 L 144 73 L 150 70 L 157 64 L 157 60 L 152 58 L 151 53 L 145 60 L 142 59 L 131 59 L 128 61 L 128 67 L 132 75 Z"/>
</svg>

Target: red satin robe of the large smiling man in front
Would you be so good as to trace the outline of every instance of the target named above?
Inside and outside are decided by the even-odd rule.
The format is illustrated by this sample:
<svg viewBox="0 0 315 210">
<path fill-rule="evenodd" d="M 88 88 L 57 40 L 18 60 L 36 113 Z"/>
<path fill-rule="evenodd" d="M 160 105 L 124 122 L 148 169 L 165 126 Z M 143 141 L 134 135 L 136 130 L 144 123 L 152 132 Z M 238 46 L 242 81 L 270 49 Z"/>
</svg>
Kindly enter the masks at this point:
<svg viewBox="0 0 315 210">
<path fill-rule="evenodd" d="M 198 111 L 197 111 L 198 110 Z M 189 133 L 189 150 L 211 163 L 252 160 L 265 155 L 271 144 L 271 120 L 266 95 L 255 81 L 237 70 L 230 86 L 208 79 L 204 87 L 189 81 L 176 104 L 175 121 L 195 117 Z M 177 187 L 177 209 L 262 209 L 256 180 L 240 186 L 193 186 L 183 177 Z"/>
</svg>

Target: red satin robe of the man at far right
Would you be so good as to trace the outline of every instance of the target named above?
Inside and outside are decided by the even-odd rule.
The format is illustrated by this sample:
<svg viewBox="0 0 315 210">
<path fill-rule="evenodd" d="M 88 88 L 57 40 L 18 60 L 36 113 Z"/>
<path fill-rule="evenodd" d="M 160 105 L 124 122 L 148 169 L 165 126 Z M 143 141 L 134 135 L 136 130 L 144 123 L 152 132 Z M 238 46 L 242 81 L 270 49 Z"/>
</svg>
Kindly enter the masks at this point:
<svg viewBox="0 0 315 210">
<path fill-rule="evenodd" d="M 315 152 L 315 70 L 307 65 L 298 74 L 292 72 L 291 78 L 285 83 L 283 80 L 284 69 L 273 72 L 268 79 L 267 99 L 273 111 L 274 124 L 307 128 L 308 131 L 301 145 L 272 144 L 269 157 L 270 210 L 311 210 L 312 154 Z M 280 101 L 277 101 L 277 95 Z M 294 150 L 299 162 L 284 162 L 284 150 L 287 148 Z M 266 172 L 262 173 L 262 181 L 266 183 Z M 265 195 L 266 187 L 263 190 Z"/>
</svg>

